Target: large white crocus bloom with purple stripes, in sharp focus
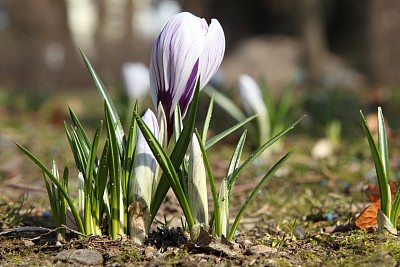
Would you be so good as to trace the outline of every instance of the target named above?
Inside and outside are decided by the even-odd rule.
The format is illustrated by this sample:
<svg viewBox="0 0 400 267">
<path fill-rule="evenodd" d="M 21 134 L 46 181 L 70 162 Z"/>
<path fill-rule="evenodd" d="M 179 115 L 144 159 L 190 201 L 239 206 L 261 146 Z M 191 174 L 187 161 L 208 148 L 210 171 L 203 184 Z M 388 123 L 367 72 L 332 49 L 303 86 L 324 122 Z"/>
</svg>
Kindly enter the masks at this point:
<svg viewBox="0 0 400 267">
<path fill-rule="evenodd" d="M 218 20 L 183 12 L 173 16 L 154 43 L 150 62 L 150 87 L 154 106 L 164 107 L 168 132 L 179 104 L 182 116 L 193 97 L 200 77 L 200 88 L 215 74 L 225 52 L 225 35 Z"/>
</svg>

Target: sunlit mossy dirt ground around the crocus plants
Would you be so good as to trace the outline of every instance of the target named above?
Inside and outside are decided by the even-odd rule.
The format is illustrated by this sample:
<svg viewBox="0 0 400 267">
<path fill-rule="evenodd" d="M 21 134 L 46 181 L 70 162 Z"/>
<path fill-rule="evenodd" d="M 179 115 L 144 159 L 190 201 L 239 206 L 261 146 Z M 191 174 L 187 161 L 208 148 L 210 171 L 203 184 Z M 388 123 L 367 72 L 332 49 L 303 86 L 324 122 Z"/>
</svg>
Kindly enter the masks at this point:
<svg viewBox="0 0 400 267">
<path fill-rule="evenodd" d="M 154 223 L 144 246 L 128 238 L 111 240 L 73 231 L 68 231 L 67 240 L 57 241 L 40 170 L 15 142 L 49 164 L 53 158 L 60 164 L 69 159 L 72 166 L 63 130 L 63 121 L 68 120 L 65 103 L 81 108 L 79 114 L 91 110 L 84 121 L 94 129 L 93 118 L 101 111 L 96 104 L 82 104 L 90 96 L 58 96 L 38 110 L 0 109 L 0 266 L 400 266 L 397 236 L 354 226 L 368 204 L 363 188 L 375 181 L 366 141 L 343 138 L 328 158 L 316 160 L 311 151 L 319 137 L 305 134 L 306 126 L 285 137 L 282 150 L 260 158 L 239 177 L 232 220 L 268 167 L 284 151 L 297 147 L 252 202 L 231 243 L 190 242 L 180 228 L 182 215 L 172 194 L 159 211 L 159 220 L 164 221 L 165 215 L 171 223 Z M 393 131 L 390 142 L 398 147 L 395 136 Z M 232 150 L 228 142 L 211 152 L 217 184 Z M 398 168 L 396 158 L 393 149 L 394 168 Z M 72 178 L 71 186 L 76 186 Z"/>
</svg>

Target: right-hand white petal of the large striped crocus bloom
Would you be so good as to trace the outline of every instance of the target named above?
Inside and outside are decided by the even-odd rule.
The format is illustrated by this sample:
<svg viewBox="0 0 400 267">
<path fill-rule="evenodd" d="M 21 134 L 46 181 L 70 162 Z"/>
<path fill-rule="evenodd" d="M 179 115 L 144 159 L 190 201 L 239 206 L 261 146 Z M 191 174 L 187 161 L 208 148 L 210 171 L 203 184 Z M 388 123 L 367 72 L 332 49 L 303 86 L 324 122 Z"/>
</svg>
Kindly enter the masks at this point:
<svg viewBox="0 0 400 267">
<path fill-rule="evenodd" d="M 225 53 L 225 34 L 218 20 L 212 19 L 207 29 L 204 50 L 200 56 L 200 88 L 217 72 Z"/>
</svg>

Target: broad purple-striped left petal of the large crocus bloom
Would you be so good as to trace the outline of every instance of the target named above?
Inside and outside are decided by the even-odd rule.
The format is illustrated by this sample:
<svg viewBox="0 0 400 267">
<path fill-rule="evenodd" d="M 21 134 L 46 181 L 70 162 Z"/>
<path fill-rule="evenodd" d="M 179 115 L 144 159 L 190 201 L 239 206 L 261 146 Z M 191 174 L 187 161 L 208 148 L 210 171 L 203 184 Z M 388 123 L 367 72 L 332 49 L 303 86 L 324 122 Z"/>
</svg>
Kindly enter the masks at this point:
<svg viewBox="0 0 400 267">
<path fill-rule="evenodd" d="M 194 87 L 203 47 L 202 20 L 188 12 L 173 16 L 156 40 L 150 63 L 150 85 L 154 106 L 163 102 L 167 116 L 172 116 L 173 107 L 185 90 Z"/>
</svg>

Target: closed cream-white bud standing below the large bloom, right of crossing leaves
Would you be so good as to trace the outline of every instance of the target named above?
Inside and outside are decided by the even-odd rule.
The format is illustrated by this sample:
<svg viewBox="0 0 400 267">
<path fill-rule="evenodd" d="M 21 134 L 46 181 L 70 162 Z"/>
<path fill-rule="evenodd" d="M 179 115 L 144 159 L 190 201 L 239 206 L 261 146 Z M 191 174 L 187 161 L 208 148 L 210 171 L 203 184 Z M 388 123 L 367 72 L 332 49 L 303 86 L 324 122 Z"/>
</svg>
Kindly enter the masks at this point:
<svg viewBox="0 0 400 267">
<path fill-rule="evenodd" d="M 208 199 L 207 174 L 200 144 L 195 134 L 189 147 L 189 172 L 187 194 L 190 210 L 195 223 L 207 225 Z"/>
</svg>

